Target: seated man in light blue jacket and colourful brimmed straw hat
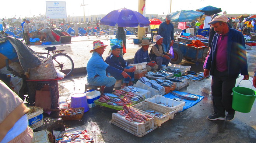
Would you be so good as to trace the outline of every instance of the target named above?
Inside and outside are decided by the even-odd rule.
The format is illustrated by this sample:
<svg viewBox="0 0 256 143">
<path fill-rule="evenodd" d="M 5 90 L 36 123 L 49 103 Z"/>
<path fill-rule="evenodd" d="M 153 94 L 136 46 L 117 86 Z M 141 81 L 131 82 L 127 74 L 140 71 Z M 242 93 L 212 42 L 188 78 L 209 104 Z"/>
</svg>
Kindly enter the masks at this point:
<svg viewBox="0 0 256 143">
<path fill-rule="evenodd" d="M 92 57 L 87 63 L 87 81 L 90 85 L 95 86 L 106 86 L 104 89 L 105 93 L 113 92 L 116 80 L 121 80 L 122 78 L 130 77 L 126 72 L 116 69 L 108 65 L 102 58 L 102 54 L 108 45 L 104 45 L 100 40 L 93 41 L 93 49 L 90 51 Z M 111 75 L 120 75 L 115 77 L 109 77 L 106 73 Z M 131 77 L 130 77 L 131 78 Z"/>
</svg>

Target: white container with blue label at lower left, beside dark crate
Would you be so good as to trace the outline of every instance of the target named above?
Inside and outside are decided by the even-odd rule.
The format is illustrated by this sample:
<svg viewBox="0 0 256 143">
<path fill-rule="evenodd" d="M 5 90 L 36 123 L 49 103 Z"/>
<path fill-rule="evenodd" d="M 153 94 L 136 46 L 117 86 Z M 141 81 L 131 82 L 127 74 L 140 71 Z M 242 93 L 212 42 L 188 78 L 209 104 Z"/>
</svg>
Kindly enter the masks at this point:
<svg viewBox="0 0 256 143">
<path fill-rule="evenodd" d="M 41 107 L 30 106 L 28 107 L 28 126 L 36 129 L 43 125 L 43 109 Z"/>
</svg>

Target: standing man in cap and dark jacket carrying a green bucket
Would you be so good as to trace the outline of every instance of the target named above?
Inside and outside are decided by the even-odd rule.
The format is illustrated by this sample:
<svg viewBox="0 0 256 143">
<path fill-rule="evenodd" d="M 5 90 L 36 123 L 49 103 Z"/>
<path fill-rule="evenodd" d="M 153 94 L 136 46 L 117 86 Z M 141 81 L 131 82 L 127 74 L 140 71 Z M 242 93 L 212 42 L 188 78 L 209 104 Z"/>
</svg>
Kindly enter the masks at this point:
<svg viewBox="0 0 256 143">
<path fill-rule="evenodd" d="M 241 73 L 243 80 L 249 80 L 245 40 L 241 32 L 231 29 L 225 15 L 218 15 L 208 24 L 214 27 L 216 34 L 210 45 L 211 50 L 204 67 L 204 77 L 212 75 L 211 94 L 214 114 L 209 120 L 232 121 L 235 110 L 232 109 L 232 88 Z M 225 111 L 228 112 L 227 116 Z"/>
</svg>

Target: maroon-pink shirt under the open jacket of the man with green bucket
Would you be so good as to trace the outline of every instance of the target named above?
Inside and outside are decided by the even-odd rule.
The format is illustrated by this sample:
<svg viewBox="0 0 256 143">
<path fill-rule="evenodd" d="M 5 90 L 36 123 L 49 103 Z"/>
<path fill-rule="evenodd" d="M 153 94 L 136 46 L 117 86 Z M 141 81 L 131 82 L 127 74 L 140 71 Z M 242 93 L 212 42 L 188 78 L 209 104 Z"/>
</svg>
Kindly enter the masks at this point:
<svg viewBox="0 0 256 143">
<path fill-rule="evenodd" d="M 227 66 L 227 48 L 228 48 L 228 35 L 218 37 L 217 53 L 216 53 L 216 69 L 220 72 L 228 70 Z"/>
</svg>

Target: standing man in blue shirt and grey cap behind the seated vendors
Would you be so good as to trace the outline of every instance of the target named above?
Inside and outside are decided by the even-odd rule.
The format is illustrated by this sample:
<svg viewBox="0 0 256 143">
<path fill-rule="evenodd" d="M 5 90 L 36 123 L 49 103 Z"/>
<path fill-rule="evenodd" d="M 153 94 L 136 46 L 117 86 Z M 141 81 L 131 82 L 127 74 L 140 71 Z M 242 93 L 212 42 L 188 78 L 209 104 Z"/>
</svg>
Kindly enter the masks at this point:
<svg viewBox="0 0 256 143">
<path fill-rule="evenodd" d="M 161 35 L 162 37 L 164 37 L 164 40 L 163 40 L 163 49 L 164 49 L 164 52 L 169 52 L 169 47 L 170 45 L 172 46 L 173 45 L 173 40 L 174 40 L 174 26 L 173 24 L 171 23 L 171 15 L 168 14 L 166 15 L 166 18 L 165 18 L 165 22 L 162 22 L 160 25 L 159 25 L 159 28 L 158 28 L 158 35 Z"/>
</svg>

